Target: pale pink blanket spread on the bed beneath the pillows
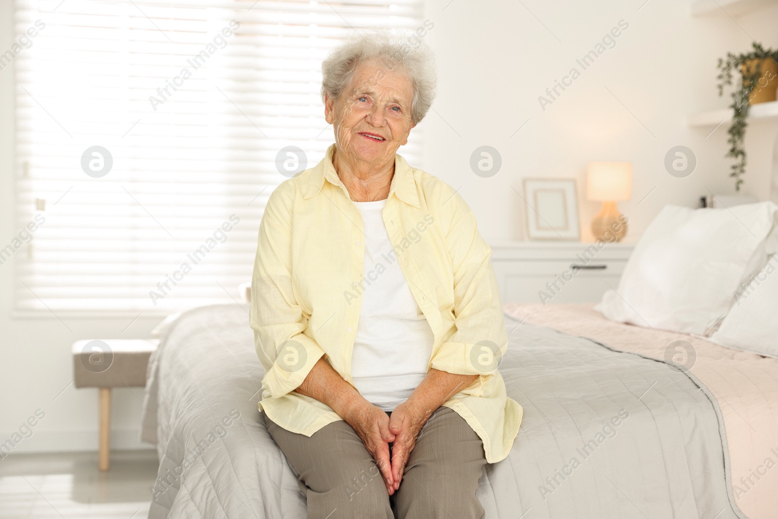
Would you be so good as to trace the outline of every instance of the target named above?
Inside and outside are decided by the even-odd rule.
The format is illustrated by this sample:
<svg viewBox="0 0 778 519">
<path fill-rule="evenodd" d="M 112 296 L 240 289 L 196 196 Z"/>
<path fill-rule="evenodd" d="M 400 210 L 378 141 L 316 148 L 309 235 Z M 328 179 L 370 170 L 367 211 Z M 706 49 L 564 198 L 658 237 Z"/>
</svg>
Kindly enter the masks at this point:
<svg viewBox="0 0 778 519">
<path fill-rule="evenodd" d="M 724 416 L 733 494 L 750 519 L 778 517 L 778 359 L 701 338 L 608 321 L 593 305 L 505 303 L 506 314 L 612 348 L 664 359 L 671 342 L 696 353 L 694 374 L 716 396 Z M 506 321 L 510 331 L 516 324 Z M 778 341 L 778 338 L 776 338 Z"/>
</svg>

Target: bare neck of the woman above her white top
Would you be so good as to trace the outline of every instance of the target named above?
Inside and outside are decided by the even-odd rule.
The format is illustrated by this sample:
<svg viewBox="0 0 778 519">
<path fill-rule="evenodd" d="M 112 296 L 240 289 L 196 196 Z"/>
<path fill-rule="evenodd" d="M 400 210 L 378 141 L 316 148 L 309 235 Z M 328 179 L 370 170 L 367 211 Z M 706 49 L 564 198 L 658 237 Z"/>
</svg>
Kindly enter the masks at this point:
<svg viewBox="0 0 778 519">
<path fill-rule="evenodd" d="M 354 202 L 374 202 L 389 197 L 394 160 L 380 165 L 350 161 L 335 149 L 332 165 Z"/>
</svg>

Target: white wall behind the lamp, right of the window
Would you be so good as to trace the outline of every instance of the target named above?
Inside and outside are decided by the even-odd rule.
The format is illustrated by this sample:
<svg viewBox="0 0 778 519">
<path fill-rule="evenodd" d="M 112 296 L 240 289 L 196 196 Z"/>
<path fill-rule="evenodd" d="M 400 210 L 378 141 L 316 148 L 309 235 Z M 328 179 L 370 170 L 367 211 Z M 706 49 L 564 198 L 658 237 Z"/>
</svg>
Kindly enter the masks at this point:
<svg viewBox="0 0 778 519">
<path fill-rule="evenodd" d="M 591 160 L 633 163 L 633 198 L 619 203 L 630 219 L 627 240 L 635 240 L 665 204 L 696 207 L 709 194 L 706 187 L 734 193 L 730 160 L 724 159 L 725 125 L 706 139 L 713 127 L 688 128 L 685 119 L 730 103 L 728 93 L 717 95 L 717 58 L 748 50 L 747 33 L 766 47 L 778 45 L 778 6 L 735 23 L 724 12 L 692 18 L 688 1 L 650 0 L 641 8 L 644 1 L 429 1 L 424 17 L 435 26 L 426 40 L 436 51 L 440 79 L 435 111 L 422 121 L 425 167 L 462 186 L 489 243 L 524 239 L 524 202 L 513 191 L 524 195 L 522 177 L 576 178 L 582 236 L 591 240 L 589 224 L 599 210 L 599 202 L 585 198 Z M 621 19 L 629 29 L 582 71 L 576 58 Z M 582 71 L 580 78 L 542 110 L 538 96 L 572 67 Z M 742 191 L 761 200 L 769 199 L 776 130 L 775 122 L 748 128 Z M 482 145 L 502 155 L 495 177 L 471 172 L 470 154 Z M 687 178 L 664 169 L 665 153 L 678 145 L 691 148 L 698 160 Z"/>
</svg>

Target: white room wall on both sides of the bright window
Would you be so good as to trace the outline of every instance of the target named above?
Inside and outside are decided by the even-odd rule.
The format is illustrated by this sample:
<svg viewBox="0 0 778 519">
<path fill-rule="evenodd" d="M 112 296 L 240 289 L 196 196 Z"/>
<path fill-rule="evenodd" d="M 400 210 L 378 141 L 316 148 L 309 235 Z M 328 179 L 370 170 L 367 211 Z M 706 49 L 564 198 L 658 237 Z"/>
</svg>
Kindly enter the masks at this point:
<svg viewBox="0 0 778 519">
<path fill-rule="evenodd" d="M 649 0 L 637 11 L 642 2 L 524 0 L 533 16 L 514 0 L 429 0 L 425 18 L 435 27 L 426 40 L 438 57 L 440 88 L 435 111 L 422 122 L 424 166 L 461 187 L 489 242 L 523 239 L 523 205 L 512 189 L 522 192 L 522 177 L 578 179 L 584 238 L 591 237 L 587 223 L 598 204 L 584 198 L 590 160 L 633 162 L 633 199 L 619 205 L 630 217 L 629 239 L 638 237 L 664 204 L 694 206 L 708 192 L 706 186 L 717 193 L 733 191 L 723 158 L 724 127 L 706 139 L 713 128 L 687 128 L 685 117 L 729 103 L 717 97 L 717 58 L 744 51 L 750 45 L 746 32 L 767 46 L 778 45 L 778 7 L 737 18 L 741 29 L 724 14 L 690 17 L 688 2 Z M 12 2 L 0 0 L 0 51 L 14 37 L 12 19 Z M 541 110 L 538 96 L 620 19 L 629 29 L 616 46 Z M 6 68 L 0 71 L 0 244 L 18 232 L 12 111 L 12 68 Z M 752 168 L 745 191 L 768 199 L 776 124 L 752 124 L 749 133 Z M 495 177 L 477 177 L 470 170 L 470 154 L 482 145 L 503 157 Z M 664 154 L 676 145 L 696 153 L 691 177 L 678 179 L 664 170 Z M 122 332 L 132 317 L 68 317 L 71 331 L 54 316 L 12 317 L 13 268 L 13 261 L 0 265 L 0 443 L 40 408 L 46 418 L 19 451 L 96 448 L 96 390 L 68 386 L 70 345 L 81 338 L 146 338 L 158 319 L 142 316 Z M 115 391 L 114 447 L 138 447 L 142 389 L 134 391 Z"/>
</svg>

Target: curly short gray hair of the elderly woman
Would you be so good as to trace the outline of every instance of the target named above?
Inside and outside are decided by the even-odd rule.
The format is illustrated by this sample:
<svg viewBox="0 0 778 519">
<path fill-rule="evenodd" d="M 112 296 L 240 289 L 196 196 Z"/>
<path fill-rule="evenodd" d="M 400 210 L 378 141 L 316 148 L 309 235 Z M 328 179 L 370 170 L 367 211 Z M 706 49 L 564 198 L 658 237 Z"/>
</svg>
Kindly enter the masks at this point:
<svg viewBox="0 0 778 519">
<path fill-rule="evenodd" d="M 390 70 L 401 67 L 413 86 L 411 117 L 418 124 L 435 99 L 435 55 L 412 32 L 373 30 L 359 33 L 333 49 L 321 62 L 321 100 L 327 93 L 338 99 L 356 68 L 365 61 L 380 60 Z"/>
</svg>

